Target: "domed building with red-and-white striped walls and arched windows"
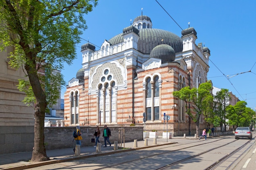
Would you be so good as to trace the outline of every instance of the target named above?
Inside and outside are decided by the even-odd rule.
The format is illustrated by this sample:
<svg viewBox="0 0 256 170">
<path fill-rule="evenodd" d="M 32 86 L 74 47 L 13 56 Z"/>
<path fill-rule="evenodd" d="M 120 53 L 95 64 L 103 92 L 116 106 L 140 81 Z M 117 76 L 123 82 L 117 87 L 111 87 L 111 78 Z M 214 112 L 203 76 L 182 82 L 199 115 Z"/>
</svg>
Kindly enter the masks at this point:
<svg viewBox="0 0 256 170">
<path fill-rule="evenodd" d="M 151 19 L 140 15 L 104 40 L 100 50 L 82 45 L 82 68 L 64 95 L 65 125 L 144 126 L 145 121 L 146 130 L 163 131 L 164 115 L 169 115 L 168 131 L 188 133 L 185 103 L 173 97 L 173 91 L 207 82 L 210 50 L 196 45 L 196 39 L 193 27 L 180 37 L 153 29 Z"/>
</svg>

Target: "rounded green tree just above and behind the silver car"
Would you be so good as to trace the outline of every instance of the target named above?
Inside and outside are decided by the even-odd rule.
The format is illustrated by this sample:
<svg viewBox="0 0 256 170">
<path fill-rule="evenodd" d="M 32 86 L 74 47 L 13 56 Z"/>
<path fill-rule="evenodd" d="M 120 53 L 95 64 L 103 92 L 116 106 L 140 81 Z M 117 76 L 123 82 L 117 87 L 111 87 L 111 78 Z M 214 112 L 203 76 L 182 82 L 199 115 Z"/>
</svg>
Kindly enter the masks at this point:
<svg viewBox="0 0 256 170">
<path fill-rule="evenodd" d="M 227 118 L 229 119 L 229 125 L 236 127 L 243 127 L 251 125 L 252 121 L 255 121 L 255 112 L 251 108 L 246 107 L 245 101 L 239 101 L 234 106 L 229 105 L 227 107 Z"/>
</svg>

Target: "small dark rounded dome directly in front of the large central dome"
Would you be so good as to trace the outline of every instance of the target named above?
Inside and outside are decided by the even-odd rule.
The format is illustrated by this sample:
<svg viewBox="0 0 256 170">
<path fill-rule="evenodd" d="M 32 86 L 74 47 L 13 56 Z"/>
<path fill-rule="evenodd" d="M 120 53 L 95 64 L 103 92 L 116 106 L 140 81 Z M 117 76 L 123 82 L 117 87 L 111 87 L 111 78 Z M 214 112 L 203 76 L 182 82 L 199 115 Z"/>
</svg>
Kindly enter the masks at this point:
<svg viewBox="0 0 256 170">
<path fill-rule="evenodd" d="M 167 45 L 161 44 L 156 46 L 150 53 L 149 58 L 159 58 L 162 62 L 172 62 L 175 60 L 174 49 Z"/>
</svg>

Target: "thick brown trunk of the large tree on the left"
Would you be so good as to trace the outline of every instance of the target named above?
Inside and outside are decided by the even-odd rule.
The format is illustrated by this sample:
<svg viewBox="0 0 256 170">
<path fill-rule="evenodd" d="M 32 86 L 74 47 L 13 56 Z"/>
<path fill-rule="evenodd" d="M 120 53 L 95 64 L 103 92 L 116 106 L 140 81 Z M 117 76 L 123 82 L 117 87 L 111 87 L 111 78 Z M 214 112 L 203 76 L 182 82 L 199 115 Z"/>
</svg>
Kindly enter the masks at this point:
<svg viewBox="0 0 256 170">
<path fill-rule="evenodd" d="M 44 146 L 45 134 L 44 134 L 44 121 L 45 121 L 45 110 L 47 107 L 45 92 L 43 91 L 40 81 L 35 69 L 25 66 L 29 82 L 32 86 L 34 95 L 36 97 L 36 106 L 35 106 L 35 124 L 34 124 L 34 148 L 32 152 L 31 161 L 47 161 L 49 157 L 46 155 L 46 150 Z"/>
</svg>

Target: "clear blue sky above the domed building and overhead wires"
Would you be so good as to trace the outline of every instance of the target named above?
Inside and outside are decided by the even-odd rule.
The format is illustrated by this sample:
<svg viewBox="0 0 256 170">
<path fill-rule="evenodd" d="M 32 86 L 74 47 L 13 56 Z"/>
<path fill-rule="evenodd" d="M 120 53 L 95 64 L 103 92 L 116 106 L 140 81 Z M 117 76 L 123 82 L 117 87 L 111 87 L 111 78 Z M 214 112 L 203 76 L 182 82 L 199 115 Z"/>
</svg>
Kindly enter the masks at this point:
<svg viewBox="0 0 256 170">
<path fill-rule="evenodd" d="M 130 19 L 133 21 L 141 15 L 143 8 L 143 15 L 150 17 L 153 28 L 180 37 L 182 29 L 188 28 L 190 22 L 190 27 L 197 32 L 196 44 L 202 42 L 211 51 L 208 80 L 217 88 L 227 88 L 246 101 L 247 107 L 255 109 L 255 7 L 254 0 L 99 0 L 98 6 L 85 15 L 88 29 L 83 32 L 81 43 L 77 44 L 76 60 L 62 70 L 64 79 L 67 84 L 82 68 L 81 45 L 89 40 L 99 50 L 105 39 L 122 33 L 130 25 Z M 65 91 L 64 87 L 62 98 Z"/>
</svg>

